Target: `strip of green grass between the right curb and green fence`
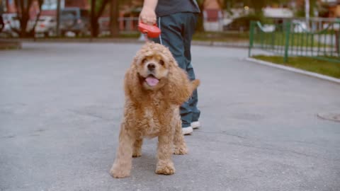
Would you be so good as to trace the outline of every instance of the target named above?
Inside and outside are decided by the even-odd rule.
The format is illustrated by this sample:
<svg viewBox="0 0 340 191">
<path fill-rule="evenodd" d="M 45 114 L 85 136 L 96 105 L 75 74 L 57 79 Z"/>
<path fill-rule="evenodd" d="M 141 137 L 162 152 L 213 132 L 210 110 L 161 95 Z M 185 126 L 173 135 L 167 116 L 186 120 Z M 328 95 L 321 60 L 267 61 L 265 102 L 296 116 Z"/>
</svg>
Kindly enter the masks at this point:
<svg viewBox="0 0 340 191">
<path fill-rule="evenodd" d="M 288 63 L 285 64 L 283 63 L 283 57 L 280 56 L 256 55 L 254 58 L 340 79 L 340 63 L 336 62 L 329 62 L 311 57 L 289 57 Z M 333 59 L 336 59 L 336 57 Z M 337 57 L 337 59 L 339 59 L 339 57 Z"/>
</svg>

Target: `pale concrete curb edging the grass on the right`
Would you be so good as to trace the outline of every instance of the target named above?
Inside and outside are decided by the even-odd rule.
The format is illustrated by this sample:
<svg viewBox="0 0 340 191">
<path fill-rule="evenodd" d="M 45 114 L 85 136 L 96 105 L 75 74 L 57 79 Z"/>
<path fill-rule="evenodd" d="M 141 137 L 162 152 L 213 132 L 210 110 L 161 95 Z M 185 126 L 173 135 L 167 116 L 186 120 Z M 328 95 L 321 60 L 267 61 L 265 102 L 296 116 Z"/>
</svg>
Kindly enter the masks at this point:
<svg viewBox="0 0 340 191">
<path fill-rule="evenodd" d="M 249 58 L 249 57 L 246 58 L 246 61 L 254 62 L 256 64 L 262 64 L 262 65 L 265 65 L 265 66 L 271 66 L 271 67 L 274 67 L 274 68 L 277 68 L 277 69 L 284 69 L 286 71 L 293 71 L 297 74 L 312 76 L 314 78 L 323 79 L 323 80 L 327 80 L 327 81 L 331 81 L 331 82 L 335 82 L 335 83 L 340 83 L 340 79 L 336 79 L 336 78 L 333 78 L 333 77 L 330 77 L 330 76 L 325 76 L 325 75 L 322 75 L 322 74 L 317 74 L 317 73 L 314 73 L 314 72 L 311 72 L 311 71 L 305 71 L 305 70 L 302 70 L 302 69 L 295 69 L 295 68 L 290 67 L 290 66 L 273 64 L 272 62 L 266 62 L 266 61 L 263 61 L 263 60 Z"/>
</svg>

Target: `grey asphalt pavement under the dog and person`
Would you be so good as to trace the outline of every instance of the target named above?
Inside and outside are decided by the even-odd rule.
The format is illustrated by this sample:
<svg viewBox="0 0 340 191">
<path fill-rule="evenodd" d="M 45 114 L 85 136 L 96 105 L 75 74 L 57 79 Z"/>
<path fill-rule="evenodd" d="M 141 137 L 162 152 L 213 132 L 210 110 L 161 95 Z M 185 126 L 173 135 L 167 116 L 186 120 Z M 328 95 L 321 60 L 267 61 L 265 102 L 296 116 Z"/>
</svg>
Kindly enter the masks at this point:
<svg viewBox="0 0 340 191">
<path fill-rule="evenodd" d="M 247 50 L 193 47 L 203 127 L 156 175 L 157 140 L 132 176 L 108 174 L 123 75 L 140 45 L 23 43 L 0 52 L 0 190 L 339 190 L 340 86 L 244 61 Z"/>
</svg>

